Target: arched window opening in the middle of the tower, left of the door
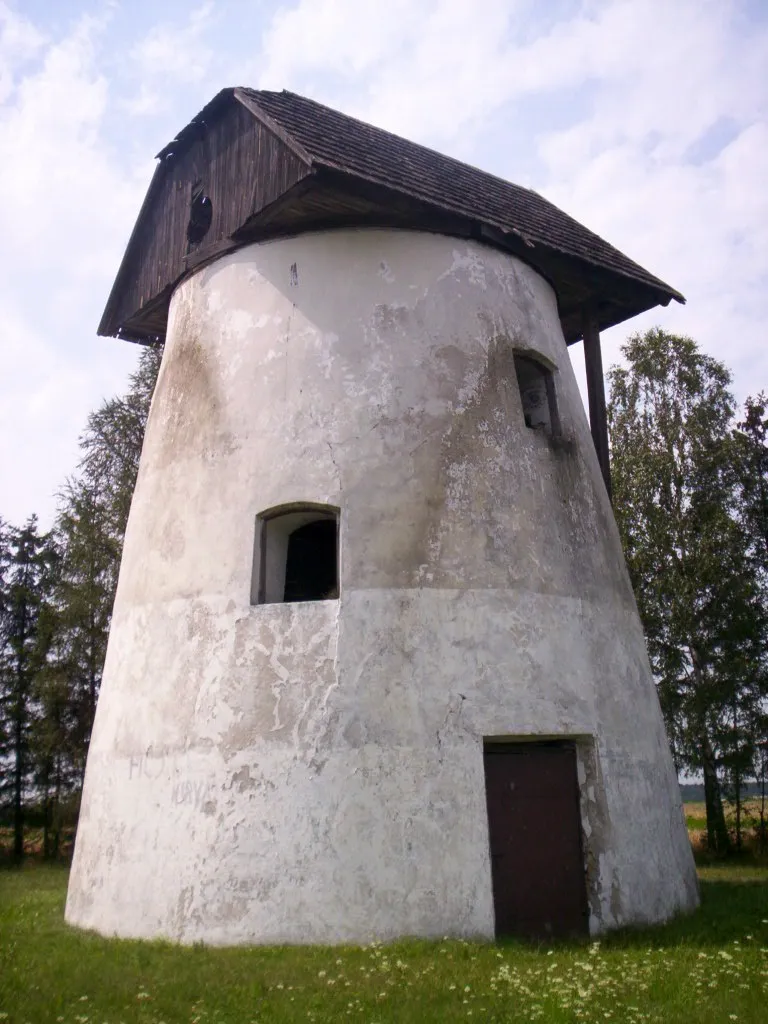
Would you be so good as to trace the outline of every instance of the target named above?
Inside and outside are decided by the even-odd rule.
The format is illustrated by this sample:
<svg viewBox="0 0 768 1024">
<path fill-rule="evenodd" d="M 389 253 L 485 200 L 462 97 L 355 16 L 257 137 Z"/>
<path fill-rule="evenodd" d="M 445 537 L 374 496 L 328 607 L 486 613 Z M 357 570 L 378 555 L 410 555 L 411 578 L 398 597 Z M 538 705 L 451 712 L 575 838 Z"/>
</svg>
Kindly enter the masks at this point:
<svg viewBox="0 0 768 1024">
<path fill-rule="evenodd" d="M 339 596 L 339 510 L 292 504 L 256 517 L 252 604 Z"/>
</svg>

